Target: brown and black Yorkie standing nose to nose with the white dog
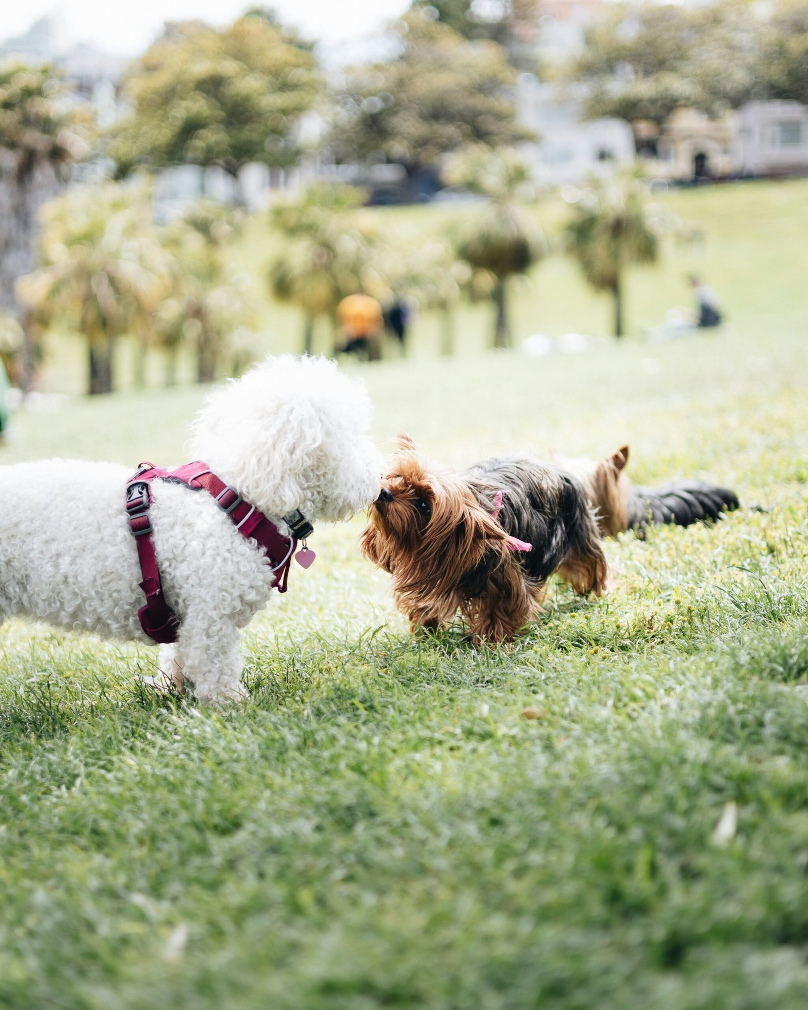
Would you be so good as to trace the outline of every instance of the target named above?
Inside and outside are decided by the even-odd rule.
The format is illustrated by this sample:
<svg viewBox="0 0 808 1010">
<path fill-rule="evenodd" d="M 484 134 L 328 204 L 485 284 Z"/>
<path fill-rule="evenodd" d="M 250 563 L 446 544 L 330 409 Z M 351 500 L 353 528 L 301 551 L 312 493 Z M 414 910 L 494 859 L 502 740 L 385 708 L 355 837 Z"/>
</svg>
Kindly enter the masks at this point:
<svg viewBox="0 0 808 1010">
<path fill-rule="evenodd" d="M 553 573 L 581 595 L 600 595 L 608 574 L 587 492 L 573 474 L 502 459 L 459 475 L 429 465 L 405 435 L 362 549 L 393 576 L 413 629 L 438 628 L 460 610 L 478 641 L 514 637 Z"/>
</svg>

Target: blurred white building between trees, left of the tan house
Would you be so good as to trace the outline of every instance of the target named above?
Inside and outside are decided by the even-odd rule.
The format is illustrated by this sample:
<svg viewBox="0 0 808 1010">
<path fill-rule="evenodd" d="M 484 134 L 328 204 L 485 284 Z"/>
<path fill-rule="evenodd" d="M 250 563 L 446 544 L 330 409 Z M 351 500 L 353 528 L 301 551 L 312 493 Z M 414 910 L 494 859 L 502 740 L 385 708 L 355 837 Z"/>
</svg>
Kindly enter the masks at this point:
<svg viewBox="0 0 808 1010">
<path fill-rule="evenodd" d="M 585 119 L 585 90 L 542 84 L 532 74 L 516 82 L 516 116 L 538 136 L 523 145 L 537 183 L 582 182 L 634 162 L 634 134 L 623 119 Z"/>
</svg>

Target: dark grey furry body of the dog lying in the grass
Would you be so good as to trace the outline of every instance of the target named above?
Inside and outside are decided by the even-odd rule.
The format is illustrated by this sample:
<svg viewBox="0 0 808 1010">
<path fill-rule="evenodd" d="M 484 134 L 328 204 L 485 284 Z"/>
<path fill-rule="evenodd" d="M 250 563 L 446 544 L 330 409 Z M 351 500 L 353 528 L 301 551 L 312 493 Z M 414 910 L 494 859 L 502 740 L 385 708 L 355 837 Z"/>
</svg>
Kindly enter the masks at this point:
<svg viewBox="0 0 808 1010">
<path fill-rule="evenodd" d="M 690 526 L 715 520 L 722 512 L 732 512 L 739 506 L 734 491 L 703 481 L 672 481 L 659 488 L 631 487 L 625 502 L 626 529 L 648 523 Z"/>
</svg>

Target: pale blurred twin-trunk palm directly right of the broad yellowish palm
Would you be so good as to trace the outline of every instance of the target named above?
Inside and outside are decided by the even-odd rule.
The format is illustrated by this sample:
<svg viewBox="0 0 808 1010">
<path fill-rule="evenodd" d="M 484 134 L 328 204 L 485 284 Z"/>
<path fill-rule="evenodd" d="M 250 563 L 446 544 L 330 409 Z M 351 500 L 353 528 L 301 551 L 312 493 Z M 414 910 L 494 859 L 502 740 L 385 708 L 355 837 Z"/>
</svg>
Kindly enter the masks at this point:
<svg viewBox="0 0 808 1010">
<path fill-rule="evenodd" d="M 196 345 L 197 381 L 213 382 L 231 339 L 248 328 L 256 312 L 249 279 L 226 264 L 226 249 L 240 232 L 243 215 L 200 200 L 164 232 L 171 252 L 172 291 L 160 306 L 156 331 L 167 356 L 166 384 L 177 375 L 180 345 Z"/>
</svg>

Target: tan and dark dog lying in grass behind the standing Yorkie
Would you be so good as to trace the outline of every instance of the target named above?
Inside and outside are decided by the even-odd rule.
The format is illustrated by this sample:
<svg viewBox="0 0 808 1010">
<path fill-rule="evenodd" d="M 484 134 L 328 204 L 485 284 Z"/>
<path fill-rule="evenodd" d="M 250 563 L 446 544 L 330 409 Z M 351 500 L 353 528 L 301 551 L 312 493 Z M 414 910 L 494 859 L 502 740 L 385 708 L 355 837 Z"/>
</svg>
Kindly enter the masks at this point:
<svg viewBox="0 0 808 1010">
<path fill-rule="evenodd" d="M 729 488 L 703 481 L 671 481 L 659 488 L 634 487 L 625 475 L 628 446 L 605 460 L 563 460 L 561 465 L 584 484 L 604 536 L 627 529 L 641 531 L 648 525 L 714 521 L 722 512 L 739 507 Z"/>
</svg>

